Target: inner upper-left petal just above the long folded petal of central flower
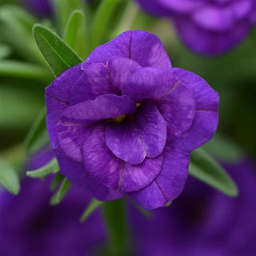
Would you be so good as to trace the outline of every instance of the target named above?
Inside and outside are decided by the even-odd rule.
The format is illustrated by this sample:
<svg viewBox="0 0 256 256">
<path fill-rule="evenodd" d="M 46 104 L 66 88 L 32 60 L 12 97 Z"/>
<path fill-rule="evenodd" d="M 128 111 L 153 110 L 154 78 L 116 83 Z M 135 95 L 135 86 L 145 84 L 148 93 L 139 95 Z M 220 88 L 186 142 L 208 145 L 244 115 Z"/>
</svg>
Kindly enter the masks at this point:
<svg viewBox="0 0 256 256">
<path fill-rule="evenodd" d="M 86 66 L 82 75 L 74 83 L 70 93 L 71 105 L 87 100 L 94 100 L 99 95 L 116 94 L 117 90 L 111 85 L 106 66 L 95 63 Z"/>
</svg>

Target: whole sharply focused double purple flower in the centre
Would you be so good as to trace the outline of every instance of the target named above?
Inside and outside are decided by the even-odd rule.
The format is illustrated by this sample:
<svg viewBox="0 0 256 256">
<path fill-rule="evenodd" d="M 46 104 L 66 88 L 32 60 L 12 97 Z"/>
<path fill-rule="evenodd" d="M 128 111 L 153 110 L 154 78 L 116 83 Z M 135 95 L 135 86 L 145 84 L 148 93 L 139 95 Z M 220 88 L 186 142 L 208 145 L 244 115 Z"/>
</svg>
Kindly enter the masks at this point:
<svg viewBox="0 0 256 256">
<path fill-rule="evenodd" d="M 139 30 L 59 75 L 46 106 L 61 173 L 100 200 L 127 194 L 145 209 L 178 197 L 190 152 L 218 124 L 218 94 L 173 68 L 160 40 Z"/>
</svg>

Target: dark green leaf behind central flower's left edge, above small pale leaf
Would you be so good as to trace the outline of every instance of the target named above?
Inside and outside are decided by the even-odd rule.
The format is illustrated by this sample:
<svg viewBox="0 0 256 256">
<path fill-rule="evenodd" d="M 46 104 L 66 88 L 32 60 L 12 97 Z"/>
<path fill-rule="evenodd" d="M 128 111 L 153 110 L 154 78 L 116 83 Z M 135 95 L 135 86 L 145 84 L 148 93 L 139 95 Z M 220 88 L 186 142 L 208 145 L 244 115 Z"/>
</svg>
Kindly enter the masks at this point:
<svg viewBox="0 0 256 256">
<path fill-rule="evenodd" d="M 43 107 L 26 136 L 24 142 L 26 154 L 34 154 L 49 144 L 49 135 L 46 130 L 46 107 Z"/>
</svg>

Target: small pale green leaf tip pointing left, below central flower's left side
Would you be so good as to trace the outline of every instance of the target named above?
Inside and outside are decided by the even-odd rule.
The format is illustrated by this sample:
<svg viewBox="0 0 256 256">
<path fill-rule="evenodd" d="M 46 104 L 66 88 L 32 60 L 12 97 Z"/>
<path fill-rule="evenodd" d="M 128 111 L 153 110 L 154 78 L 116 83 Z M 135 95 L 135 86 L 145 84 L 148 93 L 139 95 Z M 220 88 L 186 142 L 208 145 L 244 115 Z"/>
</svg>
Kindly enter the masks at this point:
<svg viewBox="0 0 256 256">
<path fill-rule="evenodd" d="M 53 158 L 45 166 L 42 166 L 38 170 L 28 170 L 26 175 L 30 178 L 45 178 L 48 174 L 55 174 L 59 170 L 58 161 Z"/>
</svg>

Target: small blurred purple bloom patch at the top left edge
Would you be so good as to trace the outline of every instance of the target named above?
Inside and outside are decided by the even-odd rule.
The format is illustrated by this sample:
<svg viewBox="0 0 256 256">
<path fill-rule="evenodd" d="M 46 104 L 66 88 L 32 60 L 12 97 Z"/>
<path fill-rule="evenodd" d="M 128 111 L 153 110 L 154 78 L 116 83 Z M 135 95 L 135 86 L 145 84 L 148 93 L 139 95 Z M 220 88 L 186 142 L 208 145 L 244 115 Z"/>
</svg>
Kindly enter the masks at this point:
<svg viewBox="0 0 256 256">
<path fill-rule="evenodd" d="M 49 17 L 52 13 L 50 0 L 21 0 L 26 7 L 39 17 Z"/>
</svg>

